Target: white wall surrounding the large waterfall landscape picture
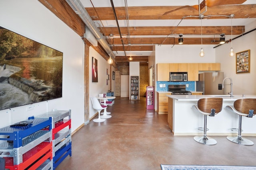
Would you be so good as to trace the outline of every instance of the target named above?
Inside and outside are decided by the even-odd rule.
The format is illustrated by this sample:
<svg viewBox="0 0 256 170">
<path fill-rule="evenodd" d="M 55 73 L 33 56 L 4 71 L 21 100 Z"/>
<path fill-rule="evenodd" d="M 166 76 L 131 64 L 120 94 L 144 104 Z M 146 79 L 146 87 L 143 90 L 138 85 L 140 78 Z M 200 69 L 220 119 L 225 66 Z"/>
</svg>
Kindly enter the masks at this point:
<svg viewBox="0 0 256 170">
<path fill-rule="evenodd" d="M 0 111 L 0 127 L 52 109 L 71 109 L 72 131 L 84 123 L 84 42 L 44 5 L 35 0 L 0 1 L 0 26 L 63 53 L 62 98 Z"/>
</svg>

